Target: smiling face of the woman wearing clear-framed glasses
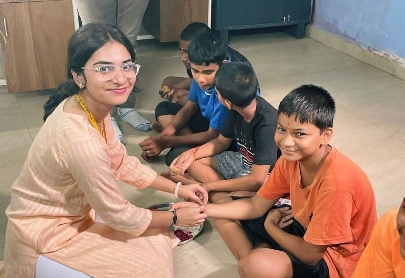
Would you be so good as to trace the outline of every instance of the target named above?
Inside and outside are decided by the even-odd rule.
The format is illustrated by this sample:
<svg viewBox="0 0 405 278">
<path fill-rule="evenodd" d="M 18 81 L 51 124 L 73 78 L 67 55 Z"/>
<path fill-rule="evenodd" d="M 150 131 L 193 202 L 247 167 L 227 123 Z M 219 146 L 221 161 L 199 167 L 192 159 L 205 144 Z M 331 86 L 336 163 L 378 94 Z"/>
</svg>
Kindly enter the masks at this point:
<svg viewBox="0 0 405 278">
<path fill-rule="evenodd" d="M 121 67 L 131 62 L 131 55 L 125 46 L 116 41 L 111 41 L 94 52 L 84 67 L 97 68 L 101 65 Z M 123 104 L 127 101 L 136 81 L 136 76 L 127 78 L 125 74 L 122 70 L 117 69 L 115 77 L 106 80 L 98 71 L 84 70 L 86 89 L 83 94 L 104 104 Z"/>
</svg>

